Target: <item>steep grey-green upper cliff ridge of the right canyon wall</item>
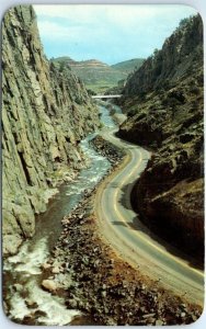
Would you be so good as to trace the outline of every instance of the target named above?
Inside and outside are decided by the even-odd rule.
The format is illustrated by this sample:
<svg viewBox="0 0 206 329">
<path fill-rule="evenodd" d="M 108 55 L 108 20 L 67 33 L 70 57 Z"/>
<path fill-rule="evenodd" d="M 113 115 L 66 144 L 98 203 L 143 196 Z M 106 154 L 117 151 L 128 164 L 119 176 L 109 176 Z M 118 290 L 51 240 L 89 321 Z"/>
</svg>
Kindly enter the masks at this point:
<svg viewBox="0 0 206 329">
<path fill-rule="evenodd" d="M 165 39 L 162 49 L 156 50 L 134 73 L 125 89 L 125 95 L 146 94 L 176 84 L 198 69 L 203 60 L 203 23 L 201 16 L 194 16 Z"/>
</svg>

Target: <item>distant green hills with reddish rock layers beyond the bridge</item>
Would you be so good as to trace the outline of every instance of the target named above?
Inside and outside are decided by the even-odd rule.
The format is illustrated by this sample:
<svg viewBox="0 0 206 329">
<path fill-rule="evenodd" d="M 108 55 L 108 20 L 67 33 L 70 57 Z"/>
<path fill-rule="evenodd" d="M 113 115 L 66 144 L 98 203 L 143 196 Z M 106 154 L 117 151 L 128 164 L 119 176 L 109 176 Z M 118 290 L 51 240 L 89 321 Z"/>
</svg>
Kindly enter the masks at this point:
<svg viewBox="0 0 206 329">
<path fill-rule="evenodd" d="M 53 58 L 52 61 L 67 64 L 71 70 L 85 83 L 88 89 L 102 92 L 117 86 L 119 80 L 127 78 L 127 73 L 117 70 L 96 59 L 76 61 L 70 57 Z"/>
</svg>

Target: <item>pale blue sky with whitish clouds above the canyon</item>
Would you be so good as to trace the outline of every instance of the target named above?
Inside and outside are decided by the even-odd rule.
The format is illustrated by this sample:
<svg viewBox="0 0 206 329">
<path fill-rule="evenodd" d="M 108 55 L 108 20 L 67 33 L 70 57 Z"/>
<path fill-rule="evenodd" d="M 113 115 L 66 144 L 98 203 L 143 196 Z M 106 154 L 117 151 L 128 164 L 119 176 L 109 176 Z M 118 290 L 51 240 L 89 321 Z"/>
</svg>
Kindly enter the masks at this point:
<svg viewBox="0 0 206 329">
<path fill-rule="evenodd" d="M 181 4 L 33 5 L 48 58 L 99 59 L 108 65 L 147 58 L 196 10 Z"/>
</svg>

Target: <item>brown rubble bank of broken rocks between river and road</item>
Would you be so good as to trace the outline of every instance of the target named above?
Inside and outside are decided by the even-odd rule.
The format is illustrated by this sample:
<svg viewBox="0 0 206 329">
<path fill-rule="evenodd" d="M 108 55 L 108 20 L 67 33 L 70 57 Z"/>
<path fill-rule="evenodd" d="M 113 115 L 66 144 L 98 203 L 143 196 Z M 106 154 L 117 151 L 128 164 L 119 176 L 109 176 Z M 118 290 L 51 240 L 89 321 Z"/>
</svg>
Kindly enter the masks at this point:
<svg viewBox="0 0 206 329">
<path fill-rule="evenodd" d="M 101 146 L 99 137 L 94 144 Z M 110 151 L 105 145 L 100 148 L 113 159 L 115 151 L 111 146 Z M 64 294 L 69 309 L 82 310 L 98 325 L 195 321 L 201 307 L 144 276 L 104 242 L 93 215 L 95 189 L 87 191 L 72 213 L 62 218 L 62 232 L 50 259 L 43 264 L 43 288 L 54 295 Z M 81 321 L 82 318 L 76 318 L 73 325 Z"/>
</svg>

